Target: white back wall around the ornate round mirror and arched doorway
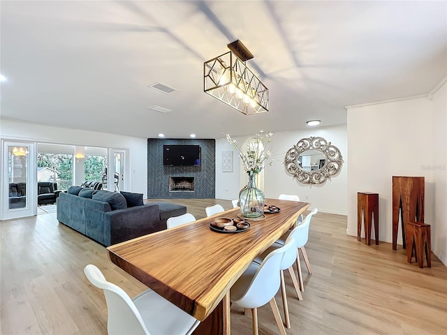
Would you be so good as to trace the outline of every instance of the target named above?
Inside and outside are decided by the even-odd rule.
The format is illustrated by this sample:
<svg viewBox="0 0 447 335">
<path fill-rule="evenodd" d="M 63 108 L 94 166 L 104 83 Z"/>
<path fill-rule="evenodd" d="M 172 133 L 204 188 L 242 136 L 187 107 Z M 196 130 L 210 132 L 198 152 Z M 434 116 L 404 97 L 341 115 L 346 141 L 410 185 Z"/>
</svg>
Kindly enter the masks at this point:
<svg viewBox="0 0 447 335">
<path fill-rule="evenodd" d="M 268 130 L 266 130 L 268 131 Z M 320 136 L 337 147 L 345 163 L 339 174 L 322 185 L 301 184 L 286 171 L 284 156 L 303 137 Z M 244 138 L 236 138 L 242 143 Z M 286 131 L 273 133 L 272 166 L 265 167 L 263 191 L 267 198 L 278 198 L 281 193 L 296 194 L 300 200 L 310 202 L 312 208 L 332 214 L 346 215 L 347 205 L 347 144 L 346 125 L 309 128 L 300 131 Z M 247 176 L 240 171 L 240 159 L 233 150 L 233 172 L 221 172 L 221 151 L 232 150 L 233 147 L 226 140 L 216 141 L 216 198 L 236 199 L 240 188 L 247 183 Z M 228 191 L 226 191 L 228 190 Z M 306 199 L 308 196 L 308 199 Z"/>
</svg>

